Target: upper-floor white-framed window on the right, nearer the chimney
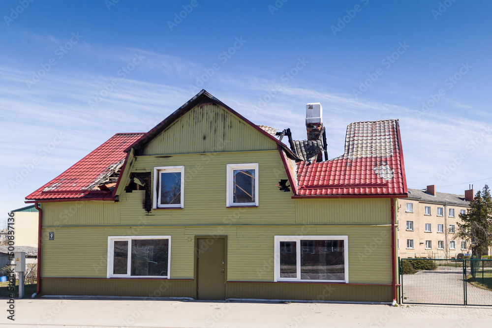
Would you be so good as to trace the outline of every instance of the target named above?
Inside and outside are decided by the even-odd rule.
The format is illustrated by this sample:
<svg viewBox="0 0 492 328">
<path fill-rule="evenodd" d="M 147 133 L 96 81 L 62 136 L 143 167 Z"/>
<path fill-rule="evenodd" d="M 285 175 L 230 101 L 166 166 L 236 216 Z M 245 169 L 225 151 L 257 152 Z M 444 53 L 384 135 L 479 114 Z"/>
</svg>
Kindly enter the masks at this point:
<svg viewBox="0 0 492 328">
<path fill-rule="evenodd" d="M 258 163 L 227 164 L 226 206 L 258 206 Z"/>
</svg>

